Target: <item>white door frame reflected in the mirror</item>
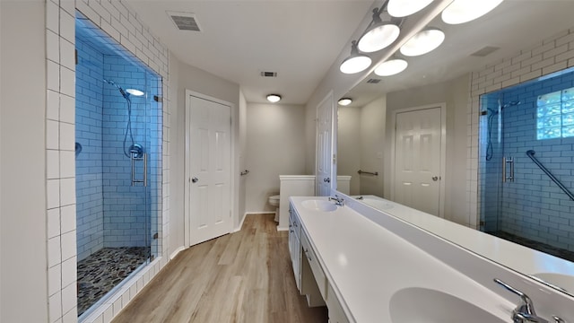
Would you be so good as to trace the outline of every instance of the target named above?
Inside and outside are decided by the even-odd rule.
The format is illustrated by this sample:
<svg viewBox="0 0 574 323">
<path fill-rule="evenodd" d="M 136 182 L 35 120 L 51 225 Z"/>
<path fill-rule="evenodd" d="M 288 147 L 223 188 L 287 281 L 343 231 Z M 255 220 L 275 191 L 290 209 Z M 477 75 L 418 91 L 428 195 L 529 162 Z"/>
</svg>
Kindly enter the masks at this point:
<svg viewBox="0 0 574 323">
<path fill-rule="evenodd" d="M 393 110 L 391 115 L 391 200 L 395 200 L 395 157 L 396 157 L 396 115 L 404 112 L 413 112 L 423 109 L 440 108 L 440 175 L 439 175 L 439 217 L 445 217 L 445 183 L 447 179 L 447 103 L 440 102 L 418 107 Z"/>
</svg>

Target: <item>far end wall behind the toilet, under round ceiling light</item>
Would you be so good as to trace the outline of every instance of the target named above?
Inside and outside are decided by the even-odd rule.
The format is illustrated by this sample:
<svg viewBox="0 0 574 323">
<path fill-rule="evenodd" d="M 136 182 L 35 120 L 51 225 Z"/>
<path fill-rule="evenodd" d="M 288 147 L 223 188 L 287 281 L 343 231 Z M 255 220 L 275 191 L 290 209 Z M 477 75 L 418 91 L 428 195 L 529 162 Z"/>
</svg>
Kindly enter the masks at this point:
<svg viewBox="0 0 574 323">
<path fill-rule="evenodd" d="M 246 212 L 274 211 L 269 196 L 279 193 L 279 175 L 305 173 L 305 108 L 248 103 Z"/>
</svg>

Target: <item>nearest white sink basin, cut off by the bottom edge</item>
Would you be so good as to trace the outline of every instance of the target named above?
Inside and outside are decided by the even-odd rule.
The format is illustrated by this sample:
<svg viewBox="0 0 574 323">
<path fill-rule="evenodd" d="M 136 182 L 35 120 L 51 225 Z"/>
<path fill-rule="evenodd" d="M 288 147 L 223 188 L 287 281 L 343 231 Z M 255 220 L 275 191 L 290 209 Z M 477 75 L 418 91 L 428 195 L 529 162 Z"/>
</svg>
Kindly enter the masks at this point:
<svg viewBox="0 0 574 323">
<path fill-rule="evenodd" d="M 395 292 L 389 310 L 393 323 L 509 322 L 456 296 L 419 287 Z"/>
</svg>

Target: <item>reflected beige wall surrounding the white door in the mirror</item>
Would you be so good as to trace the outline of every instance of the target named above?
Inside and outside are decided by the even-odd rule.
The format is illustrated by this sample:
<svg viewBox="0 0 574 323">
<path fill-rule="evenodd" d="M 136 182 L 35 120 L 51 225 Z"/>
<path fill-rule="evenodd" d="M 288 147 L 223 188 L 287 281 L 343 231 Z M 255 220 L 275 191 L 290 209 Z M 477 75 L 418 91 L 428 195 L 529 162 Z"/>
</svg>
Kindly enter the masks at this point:
<svg viewBox="0 0 574 323">
<path fill-rule="evenodd" d="M 447 163 L 445 180 L 445 218 L 457 223 L 468 224 L 465 215 L 465 169 L 466 152 L 466 107 L 469 98 L 469 75 L 444 83 L 426 85 L 414 89 L 387 94 L 387 148 L 385 150 L 385 195 L 390 195 L 391 141 L 395 126 L 391 115 L 396 109 L 420 107 L 446 102 L 447 104 Z"/>
</svg>

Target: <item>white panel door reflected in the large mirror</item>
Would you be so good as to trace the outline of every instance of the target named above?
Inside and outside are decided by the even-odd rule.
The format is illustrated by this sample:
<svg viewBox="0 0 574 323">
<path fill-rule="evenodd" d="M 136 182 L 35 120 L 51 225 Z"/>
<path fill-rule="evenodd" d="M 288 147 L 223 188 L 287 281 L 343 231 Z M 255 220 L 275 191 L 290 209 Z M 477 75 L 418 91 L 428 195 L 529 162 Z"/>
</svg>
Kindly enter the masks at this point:
<svg viewBox="0 0 574 323">
<path fill-rule="evenodd" d="M 396 114 L 395 200 L 439 215 L 440 108 Z"/>
</svg>

